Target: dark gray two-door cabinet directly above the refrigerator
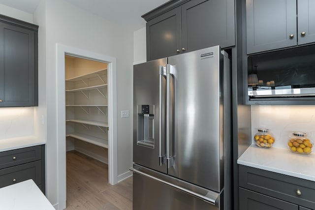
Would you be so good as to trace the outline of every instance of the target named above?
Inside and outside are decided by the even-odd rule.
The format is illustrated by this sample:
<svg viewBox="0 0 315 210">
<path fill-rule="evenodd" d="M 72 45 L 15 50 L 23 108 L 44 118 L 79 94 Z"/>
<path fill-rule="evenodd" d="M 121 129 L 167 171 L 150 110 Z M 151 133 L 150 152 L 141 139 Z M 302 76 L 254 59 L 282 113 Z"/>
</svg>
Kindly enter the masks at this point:
<svg viewBox="0 0 315 210">
<path fill-rule="evenodd" d="M 235 45 L 234 0 L 173 0 L 143 15 L 147 61 Z"/>
</svg>

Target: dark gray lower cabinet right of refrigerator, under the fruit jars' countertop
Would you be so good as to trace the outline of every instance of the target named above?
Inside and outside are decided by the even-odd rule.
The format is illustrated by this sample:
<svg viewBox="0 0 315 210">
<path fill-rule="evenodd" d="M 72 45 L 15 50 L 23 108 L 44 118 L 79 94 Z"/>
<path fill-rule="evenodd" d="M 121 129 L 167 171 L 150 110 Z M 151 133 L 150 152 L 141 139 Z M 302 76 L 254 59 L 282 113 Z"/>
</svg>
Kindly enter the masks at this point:
<svg viewBox="0 0 315 210">
<path fill-rule="evenodd" d="M 239 166 L 240 210 L 315 210 L 315 182 Z"/>
</svg>

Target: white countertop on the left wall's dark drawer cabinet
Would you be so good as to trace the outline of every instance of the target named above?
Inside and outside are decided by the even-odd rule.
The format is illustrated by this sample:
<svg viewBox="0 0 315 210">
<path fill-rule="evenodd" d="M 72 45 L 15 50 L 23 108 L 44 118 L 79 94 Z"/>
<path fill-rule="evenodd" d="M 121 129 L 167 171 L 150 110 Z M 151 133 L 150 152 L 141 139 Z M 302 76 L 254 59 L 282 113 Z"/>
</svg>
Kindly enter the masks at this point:
<svg viewBox="0 0 315 210">
<path fill-rule="evenodd" d="M 29 147 L 29 146 L 36 146 L 36 145 L 41 145 L 45 143 L 46 142 L 44 140 L 39 140 L 35 136 L 2 139 L 0 140 L 0 152 L 12 150 L 12 149 L 20 149 L 20 148 Z"/>
</svg>

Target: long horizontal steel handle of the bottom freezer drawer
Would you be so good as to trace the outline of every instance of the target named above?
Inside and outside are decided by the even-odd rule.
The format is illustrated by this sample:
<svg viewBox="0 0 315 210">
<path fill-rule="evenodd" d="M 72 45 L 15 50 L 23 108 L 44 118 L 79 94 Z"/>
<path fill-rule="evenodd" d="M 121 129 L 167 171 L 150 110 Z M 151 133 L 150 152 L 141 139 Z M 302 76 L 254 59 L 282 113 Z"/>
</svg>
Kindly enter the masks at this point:
<svg viewBox="0 0 315 210">
<path fill-rule="evenodd" d="M 189 190 L 189 189 L 186 189 L 186 188 L 184 188 L 184 187 L 177 186 L 177 185 L 175 185 L 175 184 L 173 184 L 173 183 L 170 183 L 170 182 L 168 182 L 168 181 L 164 181 L 164 180 L 162 180 L 162 179 L 159 179 L 159 178 L 157 178 L 157 177 L 155 177 L 155 176 L 148 175 L 148 174 L 146 174 L 146 173 L 144 173 L 144 172 L 141 172 L 141 171 L 139 171 L 139 170 L 137 170 L 137 169 L 135 169 L 135 168 L 130 168 L 129 170 L 132 171 L 132 172 L 134 172 L 134 173 L 137 173 L 137 174 L 139 174 L 139 175 L 143 175 L 143 176 L 152 178 L 152 179 L 154 179 L 154 180 L 156 180 L 156 181 L 158 181 L 158 182 L 167 184 L 167 185 L 169 185 L 169 186 L 171 186 L 171 187 L 174 187 L 174 188 L 176 188 L 176 189 L 178 189 L 178 190 L 181 190 L 181 191 L 183 191 L 183 192 L 186 192 L 186 193 L 188 193 L 188 194 L 190 194 L 190 195 L 192 195 L 192 196 L 195 196 L 195 197 L 197 197 L 197 198 L 199 198 L 199 199 L 202 199 L 202 200 L 204 200 L 205 202 L 208 202 L 208 203 L 210 203 L 210 204 L 212 204 L 212 205 L 214 205 L 214 206 L 217 205 L 219 195 L 218 195 L 218 196 L 213 196 L 213 195 L 211 195 L 211 193 L 207 193 L 207 195 L 201 195 L 201 194 L 199 194 L 199 193 L 193 192 L 193 191 L 191 191 L 191 190 Z"/>
</svg>

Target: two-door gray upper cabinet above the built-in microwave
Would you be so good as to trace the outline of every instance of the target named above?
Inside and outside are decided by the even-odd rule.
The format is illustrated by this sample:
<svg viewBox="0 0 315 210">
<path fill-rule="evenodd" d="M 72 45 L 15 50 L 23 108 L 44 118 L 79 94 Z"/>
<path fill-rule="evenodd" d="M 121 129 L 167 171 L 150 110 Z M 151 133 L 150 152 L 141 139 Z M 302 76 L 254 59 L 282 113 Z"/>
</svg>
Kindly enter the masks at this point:
<svg viewBox="0 0 315 210">
<path fill-rule="evenodd" d="M 246 0 L 247 54 L 315 42 L 314 0 Z"/>
</svg>

